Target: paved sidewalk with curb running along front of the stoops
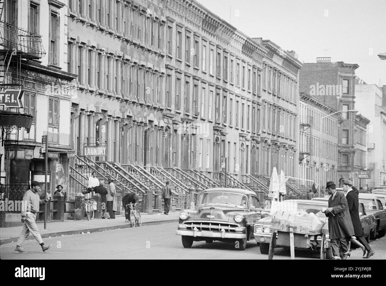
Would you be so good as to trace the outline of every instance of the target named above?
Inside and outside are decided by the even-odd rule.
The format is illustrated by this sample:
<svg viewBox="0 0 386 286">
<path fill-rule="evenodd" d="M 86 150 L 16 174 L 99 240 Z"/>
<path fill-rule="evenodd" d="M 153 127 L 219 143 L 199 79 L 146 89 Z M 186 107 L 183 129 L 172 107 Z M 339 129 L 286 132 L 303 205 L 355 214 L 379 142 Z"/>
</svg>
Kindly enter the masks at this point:
<svg viewBox="0 0 386 286">
<path fill-rule="evenodd" d="M 169 215 L 141 213 L 142 226 L 152 224 L 164 224 L 178 222 L 179 212 L 169 212 Z M 55 237 L 70 234 L 81 234 L 82 232 L 98 232 L 112 229 L 131 227 L 130 222 L 125 222 L 125 215 L 117 215 L 115 219 L 93 219 L 93 220 L 65 220 L 63 222 L 47 222 L 47 230 L 44 223 L 37 222 L 42 238 Z M 23 224 L 15 227 L 2 227 L 0 229 L 0 244 L 17 241 Z M 138 226 L 136 226 L 138 227 Z M 28 239 L 34 239 L 32 235 Z"/>
</svg>

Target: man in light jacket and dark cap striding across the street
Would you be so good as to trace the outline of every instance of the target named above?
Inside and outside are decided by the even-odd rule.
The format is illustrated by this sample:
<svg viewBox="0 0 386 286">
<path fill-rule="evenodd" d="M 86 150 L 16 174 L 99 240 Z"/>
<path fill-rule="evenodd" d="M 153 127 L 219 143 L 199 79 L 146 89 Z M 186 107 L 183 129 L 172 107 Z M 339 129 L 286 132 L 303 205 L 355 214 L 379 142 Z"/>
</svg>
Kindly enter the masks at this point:
<svg viewBox="0 0 386 286">
<path fill-rule="evenodd" d="M 27 190 L 27 192 L 25 192 L 23 195 L 21 221 L 22 223 L 24 223 L 24 225 L 22 228 L 22 232 L 20 233 L 20 237 L 17 240 L 15 252 L 27 253 L 27 251 L 25 251 L 22 246 L 25 240 L 27 239 L 27 237 L 29 236 L 29 233 L 32 233 L 32 235 L 35 237 L 37 242 L 39 242 L 43 252 L 47 251 L 52 246 L 52 244 L 50 245 L 44 244 L 35 221 L 36 213 L 39 211 L 39 205 L 45 205 L 49 201 L 48 198 L 41 200 L 39 197 L 39 194 L 37 193 L 39 191 L 40 191 L 40 183 L 36 181 L 32 181 L 31 188 Z"/>
</svg>

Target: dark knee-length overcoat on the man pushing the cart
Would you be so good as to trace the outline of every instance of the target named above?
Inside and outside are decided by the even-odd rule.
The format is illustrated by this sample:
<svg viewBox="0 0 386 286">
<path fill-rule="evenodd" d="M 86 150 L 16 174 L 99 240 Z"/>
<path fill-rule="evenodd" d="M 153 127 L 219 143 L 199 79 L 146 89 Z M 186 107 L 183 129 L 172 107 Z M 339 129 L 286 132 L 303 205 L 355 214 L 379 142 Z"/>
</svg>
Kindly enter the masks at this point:
<svg viewBox="0 0 386 286">
<path fill-rule="evenodd" d="M 330 239 L 354 235 L 347 200 L 342 192 L 336 192 L 334 199 L 332 199 L 333 196 L 328 199 L 328 207 L 332 207 L 332 212 L 326 214 Z"/>
</svg>

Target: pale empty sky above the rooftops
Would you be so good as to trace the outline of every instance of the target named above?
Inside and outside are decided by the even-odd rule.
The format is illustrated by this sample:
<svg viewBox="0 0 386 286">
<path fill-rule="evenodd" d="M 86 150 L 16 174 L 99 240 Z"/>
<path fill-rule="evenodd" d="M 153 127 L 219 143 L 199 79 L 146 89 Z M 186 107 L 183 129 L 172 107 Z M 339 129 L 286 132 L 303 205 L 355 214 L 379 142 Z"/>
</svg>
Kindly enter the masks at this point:
<svg viewBox="0 0 386 286">
<path fill-rule="evenodd" d="M 262 37 L 301 62 L 331 57 L 386 85 L 386 0 L 197 0 L 248 37 Z"/>
</svg>

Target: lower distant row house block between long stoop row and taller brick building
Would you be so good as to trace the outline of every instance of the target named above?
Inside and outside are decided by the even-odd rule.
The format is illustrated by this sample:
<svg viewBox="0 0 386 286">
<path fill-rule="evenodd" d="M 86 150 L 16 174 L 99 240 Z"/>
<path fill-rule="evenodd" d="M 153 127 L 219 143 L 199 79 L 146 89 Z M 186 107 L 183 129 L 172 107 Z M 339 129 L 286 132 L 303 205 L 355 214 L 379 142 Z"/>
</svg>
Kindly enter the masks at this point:
<svg viewBox="0 0 386 286">
<path fill-rule="evenodd" d="M 341 115 L 333 114 L 335 112 L 315 98 L 300 93 L 299 176 L 317 182 L 322 188 L 325 182 L 338 180 Z"/>
</svg>

